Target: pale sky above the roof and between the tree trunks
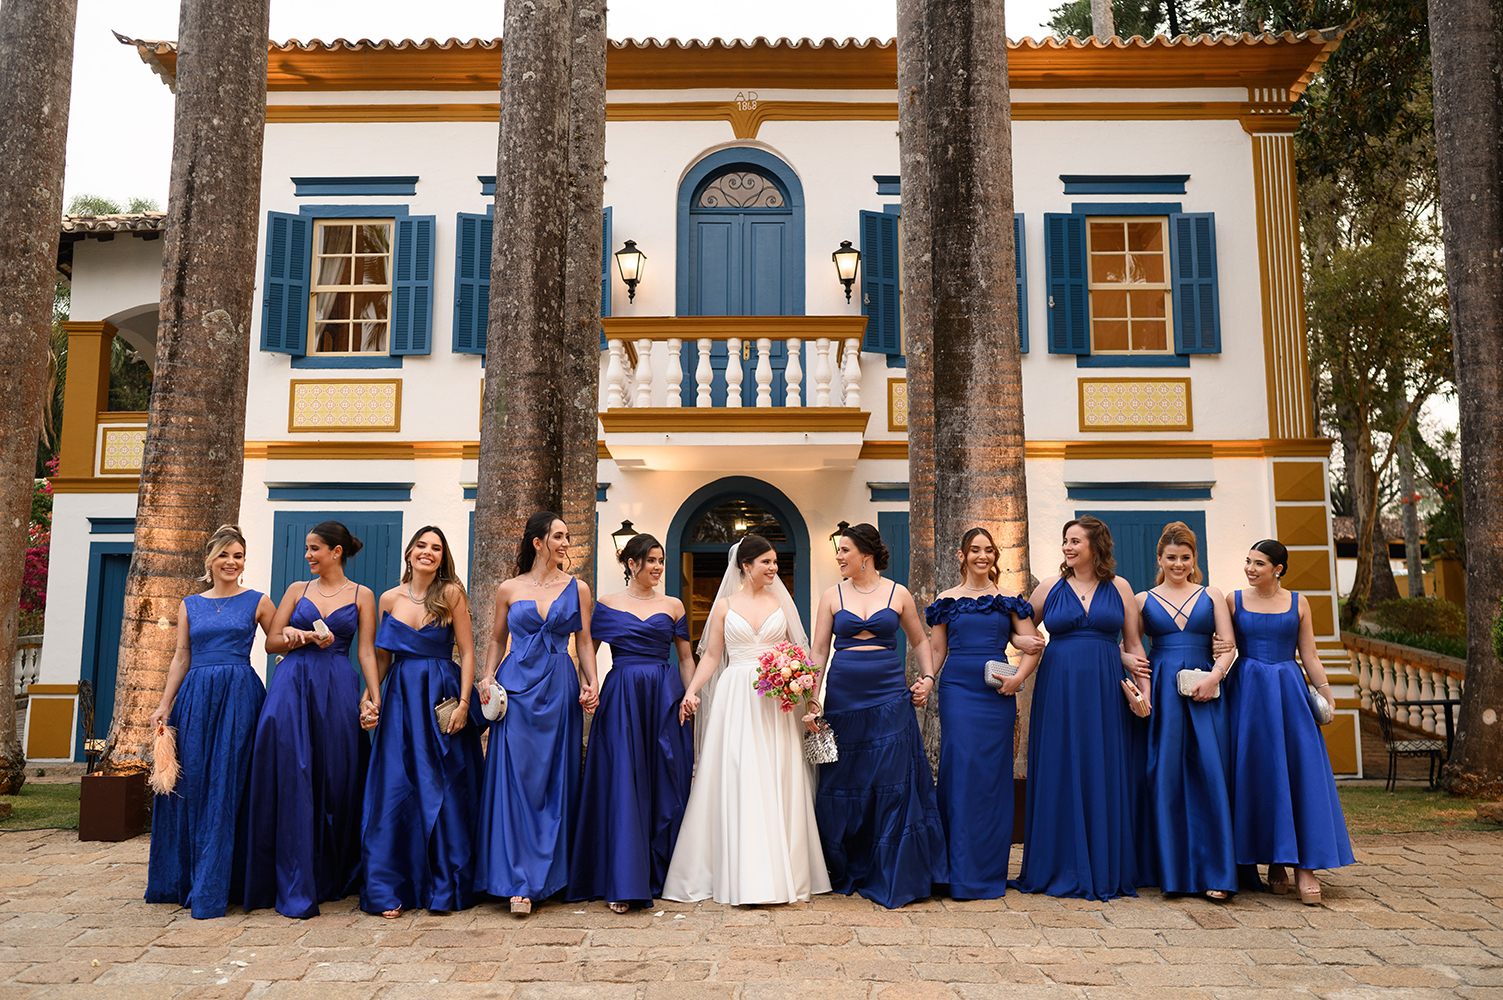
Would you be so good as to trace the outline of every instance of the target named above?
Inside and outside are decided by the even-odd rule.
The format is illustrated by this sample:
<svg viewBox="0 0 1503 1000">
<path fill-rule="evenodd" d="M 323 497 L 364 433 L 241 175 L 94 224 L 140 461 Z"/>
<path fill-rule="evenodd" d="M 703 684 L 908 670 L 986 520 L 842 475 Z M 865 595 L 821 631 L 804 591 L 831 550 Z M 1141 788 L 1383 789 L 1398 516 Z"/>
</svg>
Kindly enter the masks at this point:
<svg viewBox="0 0 1503 1000">
<path fill-rule="evenodd" d="M 1012 38 L 1045 35 L 1042 24 L 1063 0 L 1007 0 Z M 500 0 L 272 0 L 271 36 L 496 38 Z M 894 0 L 613 0 L 610 38 L 881 38 L 894 35 Z M 167 206 L 173 146 L 173 98 L 167 86 L 120 45 L 128 38 L 177 38 L 177 0 L 78 0 L 74 98 L 68 123 L 63 203 L 96 194 Z"/>
</svg>

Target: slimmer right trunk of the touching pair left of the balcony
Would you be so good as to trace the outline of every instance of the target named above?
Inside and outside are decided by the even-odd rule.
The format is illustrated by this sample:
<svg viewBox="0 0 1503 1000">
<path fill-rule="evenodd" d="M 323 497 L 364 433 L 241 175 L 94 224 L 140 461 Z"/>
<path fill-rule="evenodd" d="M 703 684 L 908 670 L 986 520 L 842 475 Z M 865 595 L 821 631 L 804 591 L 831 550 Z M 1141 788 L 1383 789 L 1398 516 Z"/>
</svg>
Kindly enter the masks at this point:
<svg viewBox="0 0 1503 1000">
<path fill-rule="evenodd" d="M 595 469 L 600 420 L 600 262 L 606 197 L 606 5 L 574 0 L 570 83 L 570 218 L 565 265 L 562 496 L 574 576 L 595 585 Z"/>
</svg>

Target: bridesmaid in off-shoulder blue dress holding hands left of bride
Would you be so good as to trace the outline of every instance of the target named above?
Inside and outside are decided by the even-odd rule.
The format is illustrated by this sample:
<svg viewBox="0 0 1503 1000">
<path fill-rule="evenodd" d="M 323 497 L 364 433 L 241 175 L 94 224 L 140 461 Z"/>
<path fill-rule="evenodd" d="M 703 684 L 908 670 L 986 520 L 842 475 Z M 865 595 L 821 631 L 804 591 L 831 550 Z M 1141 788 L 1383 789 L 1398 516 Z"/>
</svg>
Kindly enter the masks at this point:
<svg viewBox="0 0 1503 1000">
<path fill-rule="evenodd" d="M 568 899 L 603 898 L 625 913 L 663 893 L 684 820 L 694 740 L 678 713 L 694 657 L 682 602 L 657 592 L 658 540 L 633 535 L 616 558 L 627 589 L 601 597 L 589 623 L 595 648 L 610 645 L 610 672 L 589 729 Z M 669 647 L 678 651 L 676 668 Z"/>
</svg>

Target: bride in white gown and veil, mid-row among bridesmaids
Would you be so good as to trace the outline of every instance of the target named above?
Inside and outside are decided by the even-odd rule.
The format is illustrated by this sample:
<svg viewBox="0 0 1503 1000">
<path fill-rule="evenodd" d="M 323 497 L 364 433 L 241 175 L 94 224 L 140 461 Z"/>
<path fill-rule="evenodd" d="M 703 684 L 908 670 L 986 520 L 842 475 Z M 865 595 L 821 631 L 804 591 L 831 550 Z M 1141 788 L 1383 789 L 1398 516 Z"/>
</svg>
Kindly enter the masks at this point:
<svg viewBox="0 0 1503 1000">
<path fill-rule="evenodd" d="M 792 902 L 830 892 L 800 716 L 752 687 L 758 657 L 785 639 L 809 645 L 771 543 L 745 535 L 730 547 L 679 710 L 681 722 L 702 710 L 706 725 L 664 899 Z"/>
</svg>

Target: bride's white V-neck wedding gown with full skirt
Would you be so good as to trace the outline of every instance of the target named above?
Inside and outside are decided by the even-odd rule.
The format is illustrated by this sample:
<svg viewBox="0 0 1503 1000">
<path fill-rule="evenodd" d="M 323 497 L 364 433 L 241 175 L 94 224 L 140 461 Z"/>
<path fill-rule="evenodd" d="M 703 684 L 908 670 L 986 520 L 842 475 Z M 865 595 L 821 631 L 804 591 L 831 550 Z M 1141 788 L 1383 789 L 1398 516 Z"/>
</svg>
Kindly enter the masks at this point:
<svg viewBox="0 0 1503 1000">
<path fill-rule="evenodd" d="M 752 687 L 758 657 L 785 639 L 782 609 L 758 630 L 726 612 L 727 662 L 715 680 L 664 899 L 792 902 L 830 892 L 815 826 L 815 768 L 804 762 L 803 705 L 782 711 Z"/>
</svg>

